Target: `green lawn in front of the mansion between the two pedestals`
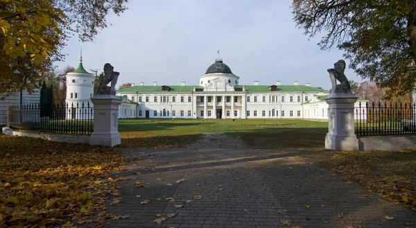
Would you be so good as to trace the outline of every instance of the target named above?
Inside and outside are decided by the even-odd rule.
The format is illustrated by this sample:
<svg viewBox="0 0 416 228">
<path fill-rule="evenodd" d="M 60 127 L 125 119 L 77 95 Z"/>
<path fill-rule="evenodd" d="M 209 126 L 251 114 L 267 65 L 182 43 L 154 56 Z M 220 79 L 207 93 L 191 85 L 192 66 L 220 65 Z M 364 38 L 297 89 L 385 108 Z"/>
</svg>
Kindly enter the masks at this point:
<svg viewBox="0 0 416 228">
<path fill-rule="evenodd" d="M 202 134 L 223 133 L 241 137 L 253 148 L 322 148 L 328 123 L 289 119 L 121 119 L 122 146 L 141 148 L 183 147 Z M 282 137 L 284 136 L 284 138 Z"/>
</svg>

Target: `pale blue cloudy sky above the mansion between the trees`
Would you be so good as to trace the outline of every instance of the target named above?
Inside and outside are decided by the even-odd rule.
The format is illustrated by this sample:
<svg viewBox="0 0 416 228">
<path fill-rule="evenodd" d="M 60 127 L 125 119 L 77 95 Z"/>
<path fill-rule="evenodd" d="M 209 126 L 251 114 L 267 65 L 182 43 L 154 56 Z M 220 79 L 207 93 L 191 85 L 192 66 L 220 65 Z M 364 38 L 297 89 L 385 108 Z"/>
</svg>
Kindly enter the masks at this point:
<svg viewBox="0 0 416 228">
<path fill-rule="evenodd" d="M 327 69 L 343 58 L 337 49 L 321 51 L 320 37 L 309 40 L 295 27 L 291 0 L 130 0 L 120 17 L 94 40 L 81 44 L 73 37 L 62 49 L 60 68 L 79 62 L 87 71 L 102 71 L 110 62 L 120 72 L 117 87 L 136 85 L 198 85 L 198 77 L 223 58 L 240 85 L 300 85 L 329 89 Z M 348 62 L 347 62 L 348 64 Z M 349 80 L 361 78 L 347 69 Z"/>
</svg>

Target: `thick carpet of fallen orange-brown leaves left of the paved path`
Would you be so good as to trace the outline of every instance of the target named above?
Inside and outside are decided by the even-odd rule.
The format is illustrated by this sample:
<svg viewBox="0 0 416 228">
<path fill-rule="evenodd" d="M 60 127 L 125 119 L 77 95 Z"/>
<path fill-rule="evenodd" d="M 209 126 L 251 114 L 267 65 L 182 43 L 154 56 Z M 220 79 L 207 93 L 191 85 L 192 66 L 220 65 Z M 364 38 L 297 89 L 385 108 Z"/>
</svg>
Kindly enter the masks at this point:
<svg viewBox="0 0 416 228">
<path fill-rule="evenodd" d="M 0 145 L 0 227 L 71 225 L 117 194 L 107 175 L 125 160 L 111 148 L 3 134 Z"/>
</svg>

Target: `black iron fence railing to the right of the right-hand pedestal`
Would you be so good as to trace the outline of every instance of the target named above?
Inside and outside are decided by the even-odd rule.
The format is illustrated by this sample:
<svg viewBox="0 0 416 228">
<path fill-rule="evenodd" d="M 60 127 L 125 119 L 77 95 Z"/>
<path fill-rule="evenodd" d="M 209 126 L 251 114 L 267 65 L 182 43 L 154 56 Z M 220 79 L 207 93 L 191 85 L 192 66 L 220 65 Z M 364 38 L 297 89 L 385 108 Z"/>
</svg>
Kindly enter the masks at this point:
<svg viewBox="0 0 416 228">
<path fill-rule="evenodd" d="M 355 109 L 357 136 L 416 134 L 415 103 L 360 103 Z"/>
</svg>

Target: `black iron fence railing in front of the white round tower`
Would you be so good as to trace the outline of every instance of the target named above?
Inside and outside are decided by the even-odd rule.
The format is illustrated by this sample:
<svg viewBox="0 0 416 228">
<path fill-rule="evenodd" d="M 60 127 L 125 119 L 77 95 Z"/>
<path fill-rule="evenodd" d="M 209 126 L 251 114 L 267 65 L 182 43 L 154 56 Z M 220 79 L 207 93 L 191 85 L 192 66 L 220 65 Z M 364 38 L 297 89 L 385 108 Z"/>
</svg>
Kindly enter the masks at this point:
<svg viewBox="0 0 416 228">
<path fill-rule="evenodd" d="M 89 103 L 9 106 L 7 125 L 10 129 L 60 134 L 91 134 L 94 110 Z"/>
</svg>

